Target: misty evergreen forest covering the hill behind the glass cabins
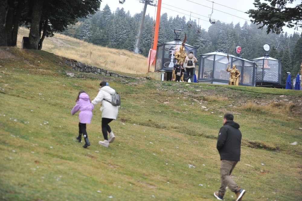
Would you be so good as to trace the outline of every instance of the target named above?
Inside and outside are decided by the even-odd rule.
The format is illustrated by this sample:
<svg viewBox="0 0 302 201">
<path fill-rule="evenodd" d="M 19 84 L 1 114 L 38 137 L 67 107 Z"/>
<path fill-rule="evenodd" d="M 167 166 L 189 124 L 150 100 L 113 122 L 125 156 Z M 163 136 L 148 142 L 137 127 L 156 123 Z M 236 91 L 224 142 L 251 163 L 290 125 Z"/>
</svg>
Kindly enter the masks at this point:
<svg viewBox="0 0 302 201">
<path fill-rule="evenodd" d="M 96 45 L 134 51 L 142 13 L 131 16 L 130 12 L 126 12 L 124 8 L 111 11 L 106 5 L 103 10 L 87 18 L 79 19 L 79 23 L 75 25 L 70 25 L 63 34 Z M 163 13 L 160 17 L 158 44 L 174 40 L 175 28 L 182 29 L 181 41 L 187 34 L 186 43 L 198 49 L 197 58 L 201 54 L 215 50 L 235 55 L 236 46 L 240 46 L 242 48 L 240 56 L 251 60 L 264 56 L 265 52 L 262 47 L 268 44 L 271 47 L 269 56 L 282 63 L 282 84 L 286 82 L 286 72 L 291 72 L 293 77 L 300 72 L 302 34 L 299 32 L 267 34 L 265 28 L 258 29 L 259 25 L 247 21 L 243 25 L 216 21 L 208 30 L 205 30 L 198 25 L 196 20 L 191 21 L 192 27 L 189 28 L 187 26 L 189 22 L 185 16 L 177 15 L 173 18 Z M 154 26 L 153 17 L 147 14 L 139 49 L 139 53 L 144 56 L 148 56 L 153 43 Z"/>
</svg>

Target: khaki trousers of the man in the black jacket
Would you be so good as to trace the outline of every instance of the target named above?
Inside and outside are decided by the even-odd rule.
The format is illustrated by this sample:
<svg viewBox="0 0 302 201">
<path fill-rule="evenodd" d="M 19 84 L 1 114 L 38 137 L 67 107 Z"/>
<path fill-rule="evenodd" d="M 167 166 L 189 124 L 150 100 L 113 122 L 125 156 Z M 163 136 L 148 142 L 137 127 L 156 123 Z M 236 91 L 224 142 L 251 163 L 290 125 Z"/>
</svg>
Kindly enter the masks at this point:
<svg viewBox="0 0 302 201">
<path fill-rule="evenodd" d="M 232 192 L 237 190 L 238 186 L 230 176 L 237 163 L 238 161 L 221 160 L 221 164 L 220 164 L 221 184 L 219 188 L 219 191 L 221 193 L 226 192 L 226 186 L 228 186 Z"/>
</svg>

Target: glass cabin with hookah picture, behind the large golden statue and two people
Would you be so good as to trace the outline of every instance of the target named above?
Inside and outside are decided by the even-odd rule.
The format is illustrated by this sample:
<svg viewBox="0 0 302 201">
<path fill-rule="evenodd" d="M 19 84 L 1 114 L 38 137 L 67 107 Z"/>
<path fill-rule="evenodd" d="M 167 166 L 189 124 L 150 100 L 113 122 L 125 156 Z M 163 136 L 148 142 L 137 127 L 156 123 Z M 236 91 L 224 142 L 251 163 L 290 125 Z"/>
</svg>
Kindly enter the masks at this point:
<svg viewBox="0 0 302 201">
<path fill-rule="evenodd" d="M 179 50 L 180 46 L 182 46 L 182 42 L 179 40 L 173 40 L 157 46 L 155 72 L 166 72 L 166 80 L 171 80 L 172 78 L 174 63 L 177 63 L 177 60 L 173 59 L 173 57 L 174 53 Z M 185 52 L 189 54 L 190 51 L 192 51 L 194 56 L 196 57 L 197 49 L 191 45 L 185 44 Z M 184 75 L 184 78 L 186 78 L 186 73 Z"/>
</svg>

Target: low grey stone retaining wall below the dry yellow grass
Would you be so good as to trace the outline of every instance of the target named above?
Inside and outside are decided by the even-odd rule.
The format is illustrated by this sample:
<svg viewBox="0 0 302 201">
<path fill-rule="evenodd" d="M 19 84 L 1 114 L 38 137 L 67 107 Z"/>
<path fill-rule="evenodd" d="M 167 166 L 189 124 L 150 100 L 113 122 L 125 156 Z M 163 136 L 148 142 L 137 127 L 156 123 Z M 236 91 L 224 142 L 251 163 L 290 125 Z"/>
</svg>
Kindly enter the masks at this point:
<svg viewBox="0 0 302 201">
<path fill-rule="evenodd" d="M 68 59 L 63 57 L 63 62 L 66 63 L 67 65 L 72 67 L 72 70 L 74 71 L 79 71 L 79 72 L 87 72 L 87 73 L 95 73 L 99 75 L 106 75 L 106 76 L 111 76 L 111 77 L 117 77 L 117 78 L 131 78 L 135 79 L 134 77 L 130 76 L 125 76 L 125 75 L 120 75 L 115 72 L 111 72 L 105 69 L 100 69 L 95 66 L 91 66 L 88 64 L 83 64 L 81 62 L 77 62 L 74 59 Z"/>
</svg>

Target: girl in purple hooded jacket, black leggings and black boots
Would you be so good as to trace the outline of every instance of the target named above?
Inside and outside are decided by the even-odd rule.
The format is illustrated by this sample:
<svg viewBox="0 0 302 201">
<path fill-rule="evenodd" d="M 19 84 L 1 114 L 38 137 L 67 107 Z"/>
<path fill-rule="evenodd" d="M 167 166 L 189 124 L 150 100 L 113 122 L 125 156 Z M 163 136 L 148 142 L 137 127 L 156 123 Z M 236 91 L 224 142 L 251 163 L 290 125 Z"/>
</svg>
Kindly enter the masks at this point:
<svg viewBox="0 0 302 201">
<path fill-rule="evenodd" d="M 85 144 L 83 145 L 84 148 L 90 146 L 86 132 L 86 123 L 90 123 L 91 121 L 93 108 L 94 105 L 91 103 L 88 94 L 86 94 L 85 91 L 80 91 L 76 99 L 76 105 L 71 110 L 71 114 L 74 115 L 77 111 L 80 110 L 79 136 L 76 139 L 81 142 L 83 134 L 85 140 Z"/>
</svg>

